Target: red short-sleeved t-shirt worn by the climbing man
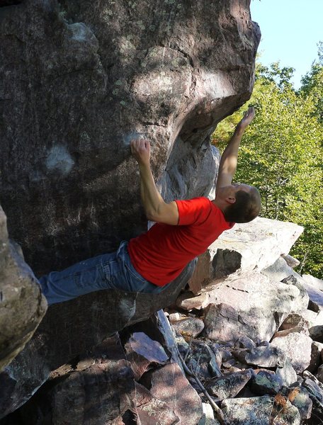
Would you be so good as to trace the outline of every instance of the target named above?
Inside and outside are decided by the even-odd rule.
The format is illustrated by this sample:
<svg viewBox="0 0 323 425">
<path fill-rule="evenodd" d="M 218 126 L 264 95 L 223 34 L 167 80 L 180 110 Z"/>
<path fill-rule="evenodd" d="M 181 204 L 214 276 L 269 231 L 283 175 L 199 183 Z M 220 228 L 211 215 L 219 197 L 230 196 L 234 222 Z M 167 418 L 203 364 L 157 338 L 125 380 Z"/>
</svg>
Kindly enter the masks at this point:
<svg viewBox="0 0 323 425">
<path fill-rule="evenodd" d="M 176 200 L 176 204 L 179 225 L 156 223 L 128 244 L 132 265 L 158 286 L 179 276 L 186 264 L 234 225 L 225 221 L 223 212 L 208 198 Z"/>
</svg>

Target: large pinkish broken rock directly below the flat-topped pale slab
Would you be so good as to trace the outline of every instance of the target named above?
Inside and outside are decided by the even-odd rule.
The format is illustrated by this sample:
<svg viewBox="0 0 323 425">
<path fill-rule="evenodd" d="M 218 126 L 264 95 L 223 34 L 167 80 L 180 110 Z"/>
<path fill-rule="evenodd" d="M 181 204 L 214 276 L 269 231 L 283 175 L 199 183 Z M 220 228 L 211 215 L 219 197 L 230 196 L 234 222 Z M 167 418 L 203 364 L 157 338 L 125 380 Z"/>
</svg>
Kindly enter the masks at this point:
<svg viewBox="0 0 323 425">
<path fill-rule="evenodd" d="M 261 273 L 236 276 L 208 293 L 203 334 L 219 341 L 236 341 L 244 335 L 269 341 L 299 294 L 294 285 L 272 282 Z"/>
</svg>

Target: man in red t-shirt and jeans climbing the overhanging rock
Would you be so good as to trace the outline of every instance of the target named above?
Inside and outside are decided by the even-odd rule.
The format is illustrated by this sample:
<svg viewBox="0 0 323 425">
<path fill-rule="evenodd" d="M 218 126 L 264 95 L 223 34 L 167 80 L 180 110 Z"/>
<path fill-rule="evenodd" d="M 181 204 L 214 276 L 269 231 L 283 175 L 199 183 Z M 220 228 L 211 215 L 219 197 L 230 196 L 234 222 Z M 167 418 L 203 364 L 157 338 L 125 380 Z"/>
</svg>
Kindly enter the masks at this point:
<svg viewBox="0 0 323 425">
<path fill-rule="evenodd" d="M 130 242 L 121 242 L 118 251 L 42 276 L 40 285 L 48 304 L 103 289 L 159 293 L 234 222 L 249 222 L 259 215 L 257 189 L 232 184 L 242 135 L 253 118 L 254 108 L 249 108 L 222 154 L 212 201 L 200 197 L 165 203 L 150 169 L 149 141 L 132 140 L 142 205 L 147 218 L 156 224 Z"/>
</svg>

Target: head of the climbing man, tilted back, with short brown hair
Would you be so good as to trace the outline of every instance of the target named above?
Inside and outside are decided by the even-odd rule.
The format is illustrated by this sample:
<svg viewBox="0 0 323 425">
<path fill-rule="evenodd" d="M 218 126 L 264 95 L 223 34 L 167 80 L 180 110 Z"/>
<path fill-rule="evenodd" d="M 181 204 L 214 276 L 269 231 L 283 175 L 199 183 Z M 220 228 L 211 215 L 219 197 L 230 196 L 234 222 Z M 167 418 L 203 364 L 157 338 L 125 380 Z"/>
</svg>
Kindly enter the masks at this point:
<svg viewBox="0 0 323 425">
<path fill-rule="evenodd" d="M 227 222 L 249 222 L 261 210 L 258 189 L 247 184 L 234 183 L 218 189 L 215 203 L 221 208 Z"/>
</svg>

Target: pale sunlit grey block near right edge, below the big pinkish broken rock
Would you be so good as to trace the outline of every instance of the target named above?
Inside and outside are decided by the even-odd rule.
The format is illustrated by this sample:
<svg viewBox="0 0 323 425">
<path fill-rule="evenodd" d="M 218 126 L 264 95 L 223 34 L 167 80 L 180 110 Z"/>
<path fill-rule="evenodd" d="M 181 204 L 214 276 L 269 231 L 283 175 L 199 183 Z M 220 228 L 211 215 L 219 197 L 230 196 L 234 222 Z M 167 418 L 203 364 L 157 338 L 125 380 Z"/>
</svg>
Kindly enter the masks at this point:
<svg viewBox="0 0 323 425">
<path fill-rule="evenodd" d="M 312 339 L 302 333 L 292 332 L 286 336 L 274 338 L 271 346 L 283 351 L 296 372 L 305 370 L 311 361 Z"/>
</svg>

